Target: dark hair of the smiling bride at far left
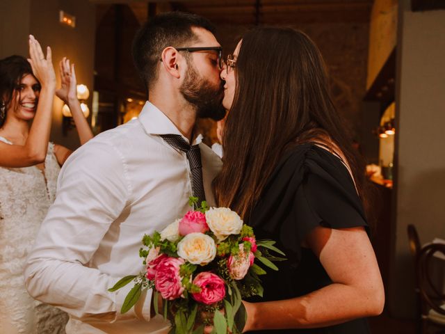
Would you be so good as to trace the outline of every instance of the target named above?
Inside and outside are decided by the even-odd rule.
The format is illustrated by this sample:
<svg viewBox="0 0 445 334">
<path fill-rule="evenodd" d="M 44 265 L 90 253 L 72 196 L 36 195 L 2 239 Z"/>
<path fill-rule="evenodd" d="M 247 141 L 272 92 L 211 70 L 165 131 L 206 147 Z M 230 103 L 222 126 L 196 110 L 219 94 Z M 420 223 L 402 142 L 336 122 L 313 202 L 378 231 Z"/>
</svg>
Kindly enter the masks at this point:
<svg viewBox="0 0 445 334">
<path fill-rule="evenodd" d="M 33 69 L 26 58 L 9 56 L 0 60 L 0 127 L 5 122 L 14 90 L 27 74 L 33 75 Z"/>
</svg>

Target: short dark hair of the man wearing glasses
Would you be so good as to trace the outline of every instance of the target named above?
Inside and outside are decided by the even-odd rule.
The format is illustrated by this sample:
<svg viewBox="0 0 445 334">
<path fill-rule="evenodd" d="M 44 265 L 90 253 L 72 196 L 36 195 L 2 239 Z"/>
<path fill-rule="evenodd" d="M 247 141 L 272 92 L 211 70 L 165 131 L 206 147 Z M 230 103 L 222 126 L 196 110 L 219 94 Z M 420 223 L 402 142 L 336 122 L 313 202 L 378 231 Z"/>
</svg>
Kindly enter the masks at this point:
<svg viewBox="0 0 445 334">
<path fill-rule="evenodd" d="M 133 39 L 131 51 L 136 70 L 147 89 L 156 80 L 156 69 L 163 49 L 188 46 L 197 38 L 192 27 L 215 33 L 215 27 L 208 19 L 181 12 L 157 15 L 140 27 Z"/>
</svg>

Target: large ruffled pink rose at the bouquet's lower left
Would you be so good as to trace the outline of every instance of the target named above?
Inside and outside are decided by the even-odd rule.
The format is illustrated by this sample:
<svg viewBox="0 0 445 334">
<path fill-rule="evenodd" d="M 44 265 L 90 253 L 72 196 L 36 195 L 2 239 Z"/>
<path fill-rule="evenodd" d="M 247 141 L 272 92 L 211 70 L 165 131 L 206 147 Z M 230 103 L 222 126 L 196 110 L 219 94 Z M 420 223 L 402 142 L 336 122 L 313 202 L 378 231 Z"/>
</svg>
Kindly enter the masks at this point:
<svg viewBox="0 0 445 334">
<path fill-rule="evenodd" d="M 181 258 L 164 257 L 156 266 L 154 287 L 161 293 L 163 299 L 172 301 L 184 292 L 181 276 L 179 276 L 179 266 L 184 262 Z"/>
</svg>

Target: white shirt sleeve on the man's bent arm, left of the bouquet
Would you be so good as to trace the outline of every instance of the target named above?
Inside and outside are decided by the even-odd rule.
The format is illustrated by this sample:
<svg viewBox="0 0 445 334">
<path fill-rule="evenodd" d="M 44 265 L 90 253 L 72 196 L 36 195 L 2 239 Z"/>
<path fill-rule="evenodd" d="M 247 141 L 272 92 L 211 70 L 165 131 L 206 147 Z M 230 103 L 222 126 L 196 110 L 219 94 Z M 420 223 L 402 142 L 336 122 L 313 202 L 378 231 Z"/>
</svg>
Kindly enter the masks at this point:
<svg viewBox="0 0 445 334">
<path fill-rule="evenodd" d="M 25 285 L 31 296 L 81 321 L 136 316 L 133 308 L 120 314 L 131 284 L 108 292 L 120 277 L 87 266 L 130 193 L 125 161 L 117 149 L 95 141 L 72 154 L 60 171 L 56 200 L 26 263 Z M 149 314 L 149 299 L 151 294 L 143 314 Z"/>
</svg>

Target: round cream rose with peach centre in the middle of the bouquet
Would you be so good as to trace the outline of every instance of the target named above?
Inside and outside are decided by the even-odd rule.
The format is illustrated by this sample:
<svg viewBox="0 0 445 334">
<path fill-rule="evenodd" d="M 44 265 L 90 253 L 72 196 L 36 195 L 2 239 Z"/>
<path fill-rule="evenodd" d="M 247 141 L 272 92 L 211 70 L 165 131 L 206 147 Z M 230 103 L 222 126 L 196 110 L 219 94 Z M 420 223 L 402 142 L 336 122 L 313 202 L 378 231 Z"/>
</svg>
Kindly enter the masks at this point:
<svg viewBox="0 0 445 334">
<path fill-rule="evenodd" d="M 178 255 L 192 264 L 204 266 L 216 256 L 216 244 L 209 235 L 193 232 L 178 243 Z"/>
</svg>

